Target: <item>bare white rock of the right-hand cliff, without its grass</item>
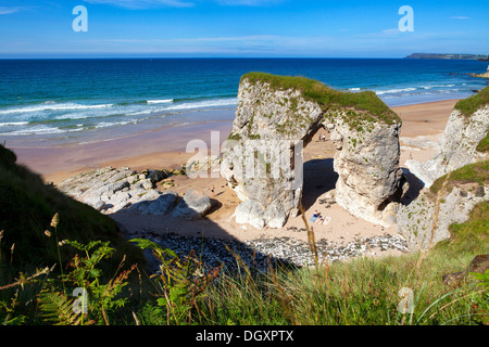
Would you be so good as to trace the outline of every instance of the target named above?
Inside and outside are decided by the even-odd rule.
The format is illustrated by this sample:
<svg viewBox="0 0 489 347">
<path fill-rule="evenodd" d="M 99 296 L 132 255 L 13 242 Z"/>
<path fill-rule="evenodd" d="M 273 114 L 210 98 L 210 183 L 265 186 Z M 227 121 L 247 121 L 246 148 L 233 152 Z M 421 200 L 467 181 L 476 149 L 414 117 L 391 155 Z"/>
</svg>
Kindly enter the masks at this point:
<svg viewBox="0 0 489 347">
<path fill-rule="evenodd" d="M 473 98 L 473 97 L 471 97 Z M 438 152 L 427 162 L 406 160 L 406 166 L 425 187 L 429 188 L 440 177 L 469 164 L 486 160 L 488 153 L 478 152 L 478 144 L 489 131 L 489 105 L 482 101 L 472 114 L 462 114 L 457 106 L 450 115 L 440 140 Z M 460 185 L 456 184 L 455 185 Z M 489 200 L 487 188 L 478 185 L 475 194 L 466 187 L 455 187 L 443 193 L 434 227 L 434 198 L 425 194 L 416 197 L 398 213 L 398 231 L 409 240 L 410 248 L 426 249 L 450 237 L 449 226 L 468 219 L 474 206 Z M 444 196 L 448 194 L 447 196 Z"/>
</svg>

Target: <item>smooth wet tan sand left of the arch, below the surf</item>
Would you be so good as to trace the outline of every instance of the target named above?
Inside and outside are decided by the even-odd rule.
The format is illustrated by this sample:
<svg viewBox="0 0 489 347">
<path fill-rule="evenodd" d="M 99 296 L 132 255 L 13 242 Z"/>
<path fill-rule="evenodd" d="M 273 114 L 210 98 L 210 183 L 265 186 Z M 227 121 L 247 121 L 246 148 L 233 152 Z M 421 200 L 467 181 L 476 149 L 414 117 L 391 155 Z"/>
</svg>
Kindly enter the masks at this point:
<svg viewBox="0 0 489 347">
<path fill-rule="evenodd" d="M 171 166 L 180 166 L 193 155 L 186 153 L 188 141 L 203 140 L 209 145 L 211 131 L 220 131 L 223 142 L 231 125 L 233 120 L 199 123 L 186 127 L 160 127 L 85 144 L 9 147 L 17 155 L 17 163 L 40 174 L 46 181 L 58 183 L 71 176 L 105 166 L 130 166 L 138 170 L 165 167 L 163 163 L 166 160 L 172 162 Z"/>
</svg>

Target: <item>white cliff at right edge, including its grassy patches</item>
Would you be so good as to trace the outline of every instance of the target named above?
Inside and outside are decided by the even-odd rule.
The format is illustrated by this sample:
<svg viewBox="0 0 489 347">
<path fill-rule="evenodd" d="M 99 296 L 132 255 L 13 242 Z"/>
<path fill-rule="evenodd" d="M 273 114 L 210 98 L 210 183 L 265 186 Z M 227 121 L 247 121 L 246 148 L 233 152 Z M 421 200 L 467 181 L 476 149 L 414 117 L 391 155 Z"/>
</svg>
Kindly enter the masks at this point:
<svg viewBox="0 0 489 347">
<path fill-rule="evenodd" d="M 476 204 L 489 201 L 488 132 L 489 87 L 455 105 L 434 157 L 406 162 L 431 191 L 446 180 L 453 185 L 440 193 L 438 204 L 427 193 L 400 207 L 397 228 L 411 249 L 429 248 L 449 239 L 450 224 L 466 221 Z"/>
</svg>

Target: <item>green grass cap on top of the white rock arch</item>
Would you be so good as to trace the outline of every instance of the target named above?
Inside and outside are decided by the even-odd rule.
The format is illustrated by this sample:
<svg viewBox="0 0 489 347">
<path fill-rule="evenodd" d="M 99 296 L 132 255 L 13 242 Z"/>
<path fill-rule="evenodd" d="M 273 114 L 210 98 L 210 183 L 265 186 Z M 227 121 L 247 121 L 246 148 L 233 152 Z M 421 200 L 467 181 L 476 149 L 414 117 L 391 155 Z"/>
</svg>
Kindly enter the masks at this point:
<svg viewBox="0 0 489 347">
<path fill-rule="evenodd" d="M 401 123 L 399 116 L 389 108 L 373 91 L 362 91 L 358 93 L 343 92 L 331 89 L 318 80 L 305 77 L 278 76 L 266 73 L 248 73 L 241 77 L 241 81 L 248 79 L 251 83 L 258 81 L 269 83 L 274 89 L 300 90 L 303 98 L 316 102 L 324 112 L 340 107 L 351 107 L 358 111 L 366 112 L 371 117 L 386 123 Z M 366 116 L 358 113 L 355 116 Z"/>
</svg>

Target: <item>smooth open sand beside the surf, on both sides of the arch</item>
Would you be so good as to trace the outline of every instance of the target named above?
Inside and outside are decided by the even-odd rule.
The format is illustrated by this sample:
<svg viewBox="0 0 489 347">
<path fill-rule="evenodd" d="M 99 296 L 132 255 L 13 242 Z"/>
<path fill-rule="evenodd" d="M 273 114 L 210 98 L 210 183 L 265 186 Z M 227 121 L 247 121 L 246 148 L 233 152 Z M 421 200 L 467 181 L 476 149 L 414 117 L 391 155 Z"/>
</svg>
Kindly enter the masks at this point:
<svg viewBox="0 0 489 347">
<path fill-rule="evenodd" d="M 390 107 L 403 121 L 400 137 L 440 134 L 457 101 L 459 99 Z M 220 131 L 222 143 L 227 139 L 231 126 L 233 120 L 195 123 L 181 127 L 159 127 L 84 144 L 22 146 L 17 143 L 8 147 L 15 152 L 20 164 L 40 174 L 46 181 L 58 183 L 71 176 L 104 166 L 128 166 L 136 170 L 180 166 L 195 155 L 186 153 L 186 145 L 190 140 L 203 140 L 210 146 L 211 131 Z"/>
</svg>

